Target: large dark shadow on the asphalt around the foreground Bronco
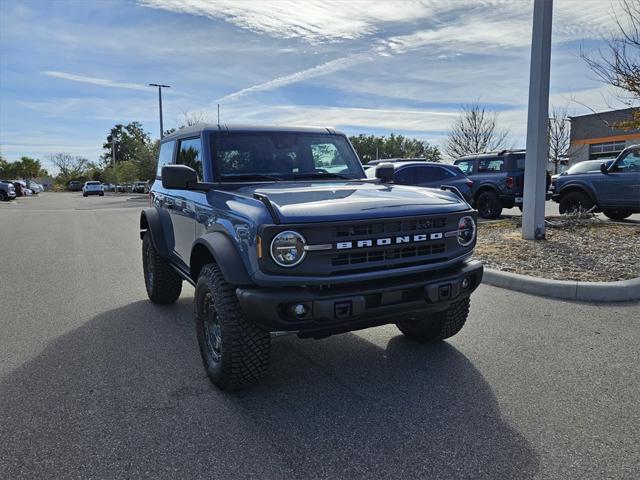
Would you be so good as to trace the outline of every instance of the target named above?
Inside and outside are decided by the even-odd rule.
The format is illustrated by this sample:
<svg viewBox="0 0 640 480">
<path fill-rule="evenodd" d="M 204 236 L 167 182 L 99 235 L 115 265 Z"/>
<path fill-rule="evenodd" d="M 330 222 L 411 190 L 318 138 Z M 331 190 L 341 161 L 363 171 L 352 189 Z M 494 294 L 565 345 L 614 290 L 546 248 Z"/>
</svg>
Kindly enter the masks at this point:
<svg viewBox="0 0 640 480">
<path fill-rule="evenodd" d="M 0 380 L 0 478 L 532 478 L 473 364 L 394 335 L 276 338 L 265 381 L 225 394 L 190 299 L 105 312 Z"/>
</svg>

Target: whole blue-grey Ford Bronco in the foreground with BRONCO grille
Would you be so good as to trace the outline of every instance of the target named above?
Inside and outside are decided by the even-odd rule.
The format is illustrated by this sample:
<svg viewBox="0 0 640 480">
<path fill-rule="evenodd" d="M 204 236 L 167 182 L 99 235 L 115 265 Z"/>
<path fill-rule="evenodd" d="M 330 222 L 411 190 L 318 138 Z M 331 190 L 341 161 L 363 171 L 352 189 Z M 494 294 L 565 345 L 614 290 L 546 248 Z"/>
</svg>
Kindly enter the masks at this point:
<svg viewBox="0 0 640 480">
<path fill-rule="evenodd" d="M 394 323 L 455 335 L 482 279 L 476 212 L 455 188 L 366 179 L 331 128 L 198 125 L 163 138 L 142 211 L 152 302 L 195 286 L 206 372 L 223 390 L 267 370 L 271 333 L 322 338 Z"/>
</svg>

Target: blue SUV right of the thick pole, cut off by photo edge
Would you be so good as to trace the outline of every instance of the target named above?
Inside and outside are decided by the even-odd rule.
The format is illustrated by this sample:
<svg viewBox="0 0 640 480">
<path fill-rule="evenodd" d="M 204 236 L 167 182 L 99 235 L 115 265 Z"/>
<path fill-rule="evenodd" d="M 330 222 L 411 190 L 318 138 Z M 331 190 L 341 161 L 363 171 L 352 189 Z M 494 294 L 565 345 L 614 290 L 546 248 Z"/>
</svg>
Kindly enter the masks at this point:
<svg viewBox="0 0 640 480">
<path fill-rule="evenodd" d="M 627 147 L 613 163 L 602 162 L 600 172 L 559 176 L 551 198 L 560 213 L 595 207 L 612 220 L 640 213 L 640 145 Z"/>
</svg>

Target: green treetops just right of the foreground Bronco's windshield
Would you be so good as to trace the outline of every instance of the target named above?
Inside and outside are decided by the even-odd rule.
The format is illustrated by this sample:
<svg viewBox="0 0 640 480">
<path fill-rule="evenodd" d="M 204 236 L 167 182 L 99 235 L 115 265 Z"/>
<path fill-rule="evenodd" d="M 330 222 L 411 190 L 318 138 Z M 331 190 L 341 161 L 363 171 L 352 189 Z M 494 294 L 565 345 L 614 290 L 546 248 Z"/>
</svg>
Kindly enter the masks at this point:
<svg viewBox="0 0 640 480">
<path fill-rule="evenodd" d="M 439 162 L 442 155 L 437 146 L 417 138 L 391 133 L 388 137 L 364 135 L 349 137 L 363 163 L 376 158 L 424 158 Z"/>
</svg>

